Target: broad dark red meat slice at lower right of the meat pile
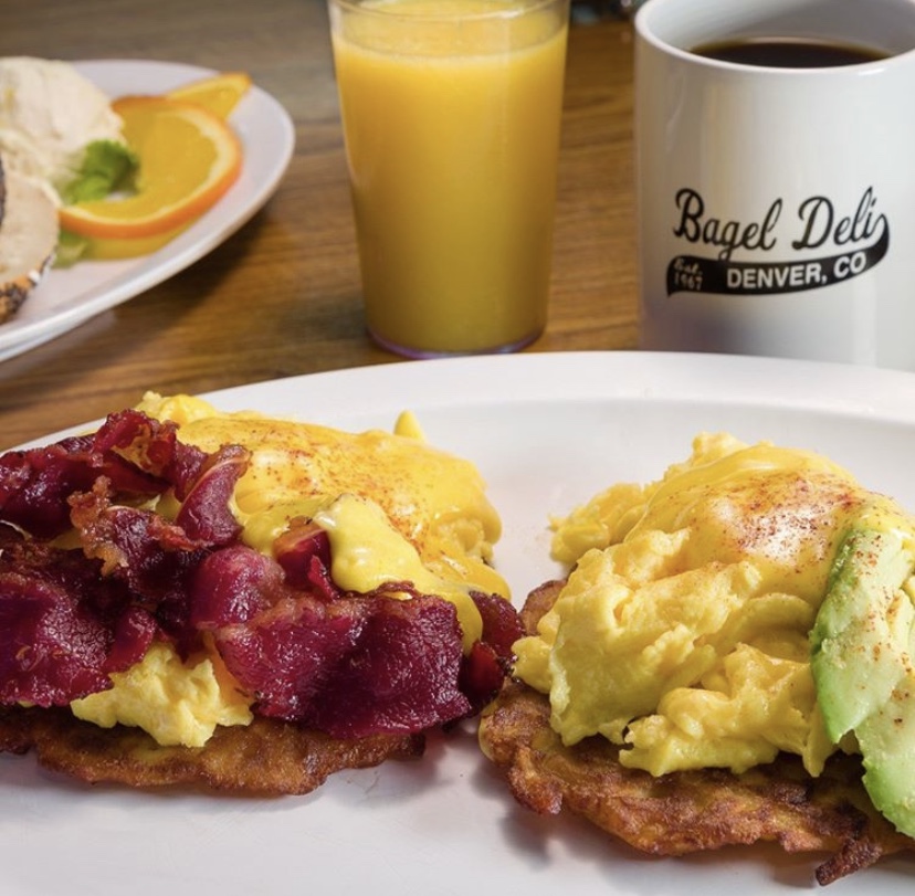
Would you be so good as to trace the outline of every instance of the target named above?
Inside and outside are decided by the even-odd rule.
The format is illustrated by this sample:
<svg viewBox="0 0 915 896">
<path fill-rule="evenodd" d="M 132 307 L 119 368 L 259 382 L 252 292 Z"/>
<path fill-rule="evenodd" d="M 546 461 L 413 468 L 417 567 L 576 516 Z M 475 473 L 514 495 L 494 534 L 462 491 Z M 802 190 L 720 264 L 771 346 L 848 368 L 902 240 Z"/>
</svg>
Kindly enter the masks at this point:
<svg viewBox="0 0 915 896">
<path fill-rule="evenodd" d="M 283 599 L 215 642 L 257 711 L 334 737 L 420 731 L 471 708 L 456 613 L 440 598 Z"/>
</svg>

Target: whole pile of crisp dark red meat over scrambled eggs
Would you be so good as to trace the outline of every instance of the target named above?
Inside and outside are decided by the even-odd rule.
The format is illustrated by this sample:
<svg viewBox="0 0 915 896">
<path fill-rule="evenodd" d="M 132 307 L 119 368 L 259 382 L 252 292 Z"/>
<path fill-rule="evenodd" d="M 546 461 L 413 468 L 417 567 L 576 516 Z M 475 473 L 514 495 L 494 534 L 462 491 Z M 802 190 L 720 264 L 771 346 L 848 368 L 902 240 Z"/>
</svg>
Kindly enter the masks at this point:
<svg viewBox="0 0 915 896">
<path fill-rule="evenodd" d="M 465 656 L 448 601 L 409 582 L 343 592 L 312 521 L 293 520 L 276 559 L 246 547 L 230 498 L 249 456 L 204 454 L 125 411 L 93 435 L 0 457 L 0 703 L 66 705 L 109 687 L 154 639 L 187 653 L 206 634 L 255 711 L 335 737 L 482 708 L 520 636 L 511 604 L 473 595 L 483 639 Z M 175 520 L 145 506 L 166 492 L 182 502 Z M 51 544 L 71 530 L 78 548 Z"/>
</svg>

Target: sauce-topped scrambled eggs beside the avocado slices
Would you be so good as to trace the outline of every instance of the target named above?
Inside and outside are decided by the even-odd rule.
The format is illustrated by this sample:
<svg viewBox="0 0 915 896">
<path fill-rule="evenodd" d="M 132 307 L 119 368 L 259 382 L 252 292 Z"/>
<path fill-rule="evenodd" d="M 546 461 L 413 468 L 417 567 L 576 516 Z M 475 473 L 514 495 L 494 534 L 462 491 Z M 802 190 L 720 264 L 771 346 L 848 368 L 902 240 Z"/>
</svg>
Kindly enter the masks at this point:
<svg viewBox="0 0 915 896">
<path fill-rule="evenodd" d="M 809 632 L 862 518 L 907 525 L 824 457 L 703 434 L 662 479 L 554 521 L 554 554 L 576 566 L 515 672 L 549 695 L 564 742 L 602 735 L 625 766 L 739 773 L 786 750 L 818 774 L 834 747 Z"/>
</svg>

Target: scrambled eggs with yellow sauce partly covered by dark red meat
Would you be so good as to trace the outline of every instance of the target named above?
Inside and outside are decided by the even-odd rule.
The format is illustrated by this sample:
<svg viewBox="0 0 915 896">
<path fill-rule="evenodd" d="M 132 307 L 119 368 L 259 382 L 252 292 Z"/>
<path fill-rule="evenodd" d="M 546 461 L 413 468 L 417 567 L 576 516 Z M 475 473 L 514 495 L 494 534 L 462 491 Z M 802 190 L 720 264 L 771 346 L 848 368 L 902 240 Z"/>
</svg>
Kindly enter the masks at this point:
<svg viewBox="0 0 915 896">
<path fill-rule="evenodd" d="M 365 593 L 412 581 L 455 605 L 465 649 L 482 635 L 470 592 L 509 597 L 490 565 L 501 523 L 478 471 L 428 445 L 411 414 L 391 434 L 221 413 L 190 396 L 148 393 L 138 408 L 178 423 L 179 438 L 203 451 L 230 443 L 251 451 L 231 503 L 249 546 L 270 555 L 291 519 L 313 518 L 330 539 L 340 588 Z M 179 508 L 165 496 L 156 509 L 171 518 Z M 251 698 L 221 665 L 214 653 L 182 663 L 170 645 L 157 644 L 140 664 L 113 675 L 111 689 L 71 707 L 104 727 L 134 725 L 160 744 L 199 747 L 217 725 L 251 720 Z"/>
</svg>

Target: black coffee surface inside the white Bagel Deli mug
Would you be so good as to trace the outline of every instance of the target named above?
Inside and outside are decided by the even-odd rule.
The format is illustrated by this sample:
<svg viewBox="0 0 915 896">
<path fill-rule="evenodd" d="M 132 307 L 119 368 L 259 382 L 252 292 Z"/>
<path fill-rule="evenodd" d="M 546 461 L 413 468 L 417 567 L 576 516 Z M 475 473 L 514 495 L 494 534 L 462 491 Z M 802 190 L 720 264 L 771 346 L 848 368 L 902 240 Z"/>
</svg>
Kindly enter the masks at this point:
<svg viewBox="0 0 915 896">
<path fill-rule="evenodd" d="M 722 62 L 764 65 L 770 68 L 829 68 L 874 62 L 890 55 L 882 50 L 867 46 L 807 38 L 744 38 L 702 44 L 694 48 L 693 52 Z"/>
</svg>

